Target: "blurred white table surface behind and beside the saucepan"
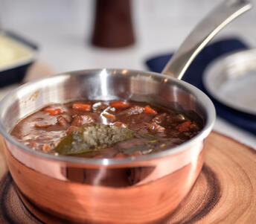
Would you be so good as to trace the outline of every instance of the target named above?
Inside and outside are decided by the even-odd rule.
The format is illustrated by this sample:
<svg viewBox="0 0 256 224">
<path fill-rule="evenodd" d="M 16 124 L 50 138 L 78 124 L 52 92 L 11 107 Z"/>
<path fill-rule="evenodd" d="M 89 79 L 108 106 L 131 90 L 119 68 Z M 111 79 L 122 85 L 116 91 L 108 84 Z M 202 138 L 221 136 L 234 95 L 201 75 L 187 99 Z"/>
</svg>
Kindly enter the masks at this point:
<svg viewBox="0 0 256 224">
<path fill-rule="evenodd" d="M 147 70 L 144 64 L 147 58 L 176 49 L 196 22 L 220 0 L 214 3 L 210 0 L 193 3 L 185 0 L 133 1 L 135 45 L 115 50 L 95 48 L 89 43 L 93 2 L 72 2 L 0 0 L 4 3 L 1 24 L 3 28 L 36 42 L 39 45 L 38 60 L 53 68 L 54 73 L 85 68 Z M 58 13 L 53 7 L 58 8 Z M 240 36 L 255 47 L 256 10 L 232 22 L 217 38 L 223 36 Z M 221 118 L 217 118 L 214 129 L 256 149 L 256 135 Z"/>
</svg>

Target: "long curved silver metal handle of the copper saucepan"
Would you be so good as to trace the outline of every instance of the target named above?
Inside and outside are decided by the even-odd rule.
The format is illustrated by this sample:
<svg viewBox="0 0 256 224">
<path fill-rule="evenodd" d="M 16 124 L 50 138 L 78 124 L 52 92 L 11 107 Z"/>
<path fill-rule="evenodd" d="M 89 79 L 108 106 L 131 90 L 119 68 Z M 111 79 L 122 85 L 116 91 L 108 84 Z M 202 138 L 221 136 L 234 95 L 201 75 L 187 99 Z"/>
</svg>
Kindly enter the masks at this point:
<svg viewBox="0 0 256 224">
<path fill-rule="evenodd" d="M 181 80 L 183 74 L 192 63 L 193 59 L 202 51 L 202 48 L 221 29 L 228 25 L 233 19 L 252 8 L 252 4 L 246 0 L 228 0 L 218 5 L 196 28 L 188 35 L 180 45 L 178 51 L 171 57 L 162 74 L 170 75 Z"/>
</svg>

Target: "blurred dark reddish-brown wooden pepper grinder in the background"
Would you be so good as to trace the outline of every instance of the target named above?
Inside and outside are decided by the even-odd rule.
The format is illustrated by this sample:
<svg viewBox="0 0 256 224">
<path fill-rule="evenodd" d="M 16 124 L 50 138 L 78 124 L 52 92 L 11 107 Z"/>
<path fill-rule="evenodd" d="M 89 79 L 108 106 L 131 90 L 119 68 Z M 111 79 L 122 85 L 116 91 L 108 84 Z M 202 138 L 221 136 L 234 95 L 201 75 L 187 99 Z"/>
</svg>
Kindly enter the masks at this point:
<svg viewBox="0 0 256 224">
<path fill-rule="evenodd" d="M 121 48 L 134 42 L 130 0 L 97 0 L 92 44 Z"/>
</svg>

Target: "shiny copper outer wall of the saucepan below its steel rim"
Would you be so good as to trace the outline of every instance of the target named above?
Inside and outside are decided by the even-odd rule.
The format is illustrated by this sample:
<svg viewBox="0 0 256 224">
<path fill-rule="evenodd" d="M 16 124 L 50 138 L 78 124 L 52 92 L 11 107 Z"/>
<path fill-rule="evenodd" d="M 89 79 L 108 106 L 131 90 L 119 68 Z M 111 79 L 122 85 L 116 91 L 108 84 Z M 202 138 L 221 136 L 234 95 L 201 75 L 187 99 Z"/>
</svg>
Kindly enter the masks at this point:
<svg viewBox="0 0 256 224">
<path fill-rule="evenodd" d="M 7 145 L 7 164 L 19 191 L 36 207 L 73 223 L 161 223 L 191 190 L 203 163 L 202 144 L 179 155 L 122 168 L 93 169 L 54 161 L 60 163 L 65 181 L 22 164 L 11 154 L 12 145 Z M 173 170 L 173 161 L 186 157 L 191 161 Z M 49 162 L 37 160 L 38 167 Z"/>
</svg>

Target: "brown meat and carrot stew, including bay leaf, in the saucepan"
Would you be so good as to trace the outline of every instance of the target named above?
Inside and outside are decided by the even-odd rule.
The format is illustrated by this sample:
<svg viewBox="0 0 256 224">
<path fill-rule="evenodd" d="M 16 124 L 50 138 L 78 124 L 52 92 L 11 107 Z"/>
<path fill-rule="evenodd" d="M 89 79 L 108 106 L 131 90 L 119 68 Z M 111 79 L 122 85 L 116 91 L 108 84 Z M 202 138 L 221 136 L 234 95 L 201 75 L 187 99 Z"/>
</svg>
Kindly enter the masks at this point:
<svg viewBox="0 0 256 224">
<path fill-rule="evenodd" d="M 123 159 L 175 147 L 201 129 L 182 113 L 149 103 L 76 100 L 34 112 L 10 135 L 54 155 Z"/>
</svg>

